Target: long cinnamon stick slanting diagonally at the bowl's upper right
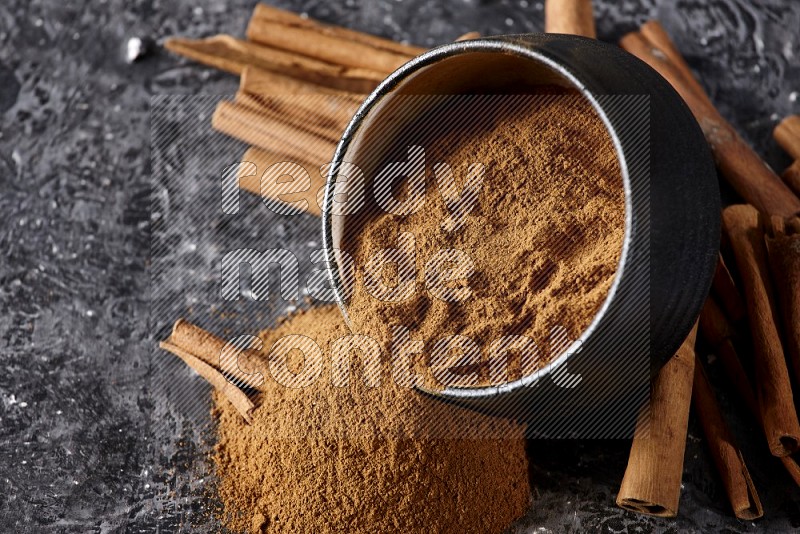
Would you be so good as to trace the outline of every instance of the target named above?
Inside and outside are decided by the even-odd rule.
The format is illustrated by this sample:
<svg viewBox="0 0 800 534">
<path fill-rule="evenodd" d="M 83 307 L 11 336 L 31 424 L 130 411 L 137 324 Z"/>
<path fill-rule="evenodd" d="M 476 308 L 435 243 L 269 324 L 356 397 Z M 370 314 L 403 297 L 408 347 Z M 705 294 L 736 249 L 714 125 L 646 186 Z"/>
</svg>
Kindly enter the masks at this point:
<svg viewBox="0 0 800 534">
<path fill-rule="evenodd" d="M 719 170 L 739 195 L 763 213 L 784 217 L 800 213 L 800 198 L 744 142 L 708 96 L 699 93 L 691 73 L 677 67 L 665 50 L 639 32 L 623 37 L 620 46 L 658 71 L 680 94 L 700 124 Z M 677 54 L 674 45 L 671 49 L 669 54 Z"/>
</svg>

